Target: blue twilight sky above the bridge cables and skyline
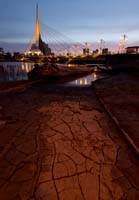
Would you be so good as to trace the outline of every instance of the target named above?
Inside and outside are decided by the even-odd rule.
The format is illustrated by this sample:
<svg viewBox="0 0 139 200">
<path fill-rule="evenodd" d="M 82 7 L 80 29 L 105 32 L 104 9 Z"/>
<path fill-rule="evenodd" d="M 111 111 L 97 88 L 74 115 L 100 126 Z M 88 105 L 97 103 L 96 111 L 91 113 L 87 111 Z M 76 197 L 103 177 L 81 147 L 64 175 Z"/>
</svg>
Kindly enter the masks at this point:
<svg viewBox="0 0 139 200">
<path fill-rule="evenodd" d="M 0 46 L 29 43 L 37 2 L 40 21 L 74 41 L 112 44 L 126 34 L 139 45 L 139 0 L 0 0 Z"/>
</svg>

